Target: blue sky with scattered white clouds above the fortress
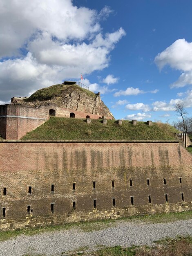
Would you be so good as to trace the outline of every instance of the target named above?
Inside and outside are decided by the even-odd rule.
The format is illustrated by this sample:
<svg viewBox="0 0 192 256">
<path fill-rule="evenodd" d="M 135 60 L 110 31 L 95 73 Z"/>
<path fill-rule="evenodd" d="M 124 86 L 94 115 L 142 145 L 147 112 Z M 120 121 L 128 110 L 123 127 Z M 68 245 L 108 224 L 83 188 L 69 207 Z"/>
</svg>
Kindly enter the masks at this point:
<svg viewBox="0 0 192 256">
<path fill-rule="evenodd" d="M 0 104 L 80 81 L 116 119 L 192 116 L 191 0 L 0 0 Z"/>
</svg>

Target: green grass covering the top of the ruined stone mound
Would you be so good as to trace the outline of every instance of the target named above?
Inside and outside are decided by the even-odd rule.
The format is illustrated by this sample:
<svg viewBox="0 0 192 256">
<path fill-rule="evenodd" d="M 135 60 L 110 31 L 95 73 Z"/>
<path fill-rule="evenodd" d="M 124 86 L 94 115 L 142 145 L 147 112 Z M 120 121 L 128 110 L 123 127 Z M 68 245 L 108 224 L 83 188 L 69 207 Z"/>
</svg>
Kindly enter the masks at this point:
<svg viewBox="0 0 192 256">
<path fill-rule="evenodd" d="M 91 92 L 89 90 L 85 90 L 85 89 L 81 88 L 78 85 L 57 84 L 57 85 L 51 85 L 51 86 L 46 87 L 46 88 L 42 88 L 42 89 L 34 92 L 29 98 L 24 99 L 24 101 L 30 102 L 30 101 L 46 101 L 46 100 L 50 100 L 50 99 L 52 99 L 54 97 L 60 96 L 61 92 L 63 92 L 64 90 L 66 90 L 69 87 L 78 88 L 82 92 L 86 92 L 89 96 L 92 96 L 94 98 L 96 97 L 94 92 Z"/>
</svg>

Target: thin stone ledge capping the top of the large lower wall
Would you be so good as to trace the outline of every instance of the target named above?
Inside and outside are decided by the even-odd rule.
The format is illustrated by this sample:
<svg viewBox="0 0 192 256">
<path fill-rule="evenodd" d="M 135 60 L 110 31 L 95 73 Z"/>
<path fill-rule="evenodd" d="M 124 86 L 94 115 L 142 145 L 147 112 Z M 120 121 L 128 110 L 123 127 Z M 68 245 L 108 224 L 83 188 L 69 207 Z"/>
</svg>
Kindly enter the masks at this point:
<svg viewBox="0 0 192 256">
<path fill-rule="evenodd" d="M 41 140 L 41 139 L 4 139 L 0 143 L 179 143 L 178 140 Z"/>
</svg>

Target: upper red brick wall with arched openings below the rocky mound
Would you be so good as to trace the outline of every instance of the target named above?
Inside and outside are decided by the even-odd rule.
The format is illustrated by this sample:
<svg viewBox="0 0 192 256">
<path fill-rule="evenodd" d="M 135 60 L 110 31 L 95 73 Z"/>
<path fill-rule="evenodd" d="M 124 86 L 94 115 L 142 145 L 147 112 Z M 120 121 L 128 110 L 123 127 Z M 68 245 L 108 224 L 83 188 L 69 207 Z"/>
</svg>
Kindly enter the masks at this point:
<svg viewBox="0 0 192 256">
<path fill-rule="evenodd" d="M 86 119 L 89 116 L 89 118 L 98 119 L 102 117 L 101 115 L 59 108 L 56 105 L 40 106 L 39 108 L 15 104 L 0 105 L 0 116 L 5 116 L 0 117 L 0 135 L 4 139 L 20 139 L 27 132 L 37 128 L 49 119 L 50 109 L 56 111 L 56 117 L 70 117 L 70 113 L 74 113 L 75 118 Z M 112 119 L 112 117 L 105 118 Z"/>
</svg>

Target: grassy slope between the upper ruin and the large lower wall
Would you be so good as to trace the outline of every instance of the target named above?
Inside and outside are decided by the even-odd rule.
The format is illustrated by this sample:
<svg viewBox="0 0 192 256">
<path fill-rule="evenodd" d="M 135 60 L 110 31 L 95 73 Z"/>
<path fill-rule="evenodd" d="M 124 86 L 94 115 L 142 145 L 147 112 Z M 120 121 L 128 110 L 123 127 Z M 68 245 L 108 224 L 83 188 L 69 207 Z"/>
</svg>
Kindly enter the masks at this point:
<svg viewBox="0 0 192 256">
<path fill-rule="evenodd" d="M 162 123 L 148 126 L 145 122 L 137 122 L 133 126 L 130 121 L 123 121 L 119 126 L 115 120 L 108 120 L 107 125 L 103 125 L 100 119 L 92 119 L 91 124 L 87 124 L 84 119 L 51 117 L 22 139 L 175 140 L 177 132 L 174 127 Z"/>
</svg>

